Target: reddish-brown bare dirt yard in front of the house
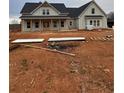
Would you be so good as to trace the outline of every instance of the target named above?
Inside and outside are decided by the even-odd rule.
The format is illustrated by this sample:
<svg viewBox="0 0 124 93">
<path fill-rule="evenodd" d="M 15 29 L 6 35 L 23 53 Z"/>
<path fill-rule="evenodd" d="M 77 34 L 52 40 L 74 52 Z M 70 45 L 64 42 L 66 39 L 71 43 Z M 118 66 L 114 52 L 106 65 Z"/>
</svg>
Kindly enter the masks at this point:
<svg viewBox="0 0 124 93">
<path fill-rule="evenodd" d="M 109 35 L 111 37 L 109 37 Z M 86 41 L 61 51 L 64 55 L 20 45 L 10 50 L 10 93 L 113 93 L 113 30 L 77 32 L 11 32 L 10 42 L 18 38 L 45 38 L 30 45 L 48 48 L 50 37 L 83 36 Z M 64 43 L 61 43 L 64 44 Z M 10 47 L 13 44 L 10 43 Z"/>
</svg>

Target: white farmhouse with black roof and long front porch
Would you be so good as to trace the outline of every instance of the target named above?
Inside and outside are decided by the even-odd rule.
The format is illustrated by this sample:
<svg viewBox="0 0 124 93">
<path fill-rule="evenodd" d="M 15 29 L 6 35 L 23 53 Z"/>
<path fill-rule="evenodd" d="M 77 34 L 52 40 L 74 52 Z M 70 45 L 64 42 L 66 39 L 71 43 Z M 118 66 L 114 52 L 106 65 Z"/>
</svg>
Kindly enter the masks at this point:
<svg viewBox="0 0 124 93">
<path fill-rule="evenodd" d="M 107 16 L 94 0 L 79 7 L 68 8 L 63 3 L 25 3 L 21 10 L 22 31 L 107 28 Z"/>
</svg>

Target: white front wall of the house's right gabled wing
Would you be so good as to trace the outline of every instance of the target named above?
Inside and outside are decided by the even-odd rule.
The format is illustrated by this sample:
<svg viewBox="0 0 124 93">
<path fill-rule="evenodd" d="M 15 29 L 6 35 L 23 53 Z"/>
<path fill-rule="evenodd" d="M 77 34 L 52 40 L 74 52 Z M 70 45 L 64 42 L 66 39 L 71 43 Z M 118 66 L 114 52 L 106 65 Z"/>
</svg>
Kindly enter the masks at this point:
<svg viewBox="0 0 124 93">
<path fill-rule="evenodd" d="M 95 14 L 91 13 L 92 8 L 95 8 Z M 101 10 L 94 4 L 92 3 L 84 12 L 82 12 L 82 14 L 79 16 L 79 29 L 85 29 L 86 28 L 86 19 L 85 16 L 86 15 L 102 15 L 102 19 L 100 19 L 101 21 L 101 27 L 102 28 L 107 28 L 107 18 L 106 16 L 103 14 L 103 12 L 101 12 Z M 93 19 L 93 18 L 92 18 Z M 96 18 L 95 20 L 97 20 L 98 18 Z M 94 19 L 93 19 L 94 20 Z"/>
</svg>

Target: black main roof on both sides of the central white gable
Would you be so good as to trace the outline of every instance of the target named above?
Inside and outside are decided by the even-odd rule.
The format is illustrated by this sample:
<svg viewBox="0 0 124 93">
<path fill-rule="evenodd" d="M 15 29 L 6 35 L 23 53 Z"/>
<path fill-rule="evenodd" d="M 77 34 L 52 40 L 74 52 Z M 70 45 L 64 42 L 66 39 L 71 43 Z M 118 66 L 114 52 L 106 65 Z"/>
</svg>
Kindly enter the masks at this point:
<svg viewBox="0 0 124 93">
<path fill-rule="evenodd" d="M 91 3 L 86 3 L 85 5 L 79 7 L 79 8 L 66 8 L 64 3 L 50 3 L 53 7 L 55 7 L 60 13 L 68 13 L 69 17 L 75 18 L 78 17 L 85 9 L 86 7 Z M 20 13 L 30 13 L 35 8 L 37 8 L 40 3 L 25 3 L 24 7 L 22 8 Z"/>
</svg>

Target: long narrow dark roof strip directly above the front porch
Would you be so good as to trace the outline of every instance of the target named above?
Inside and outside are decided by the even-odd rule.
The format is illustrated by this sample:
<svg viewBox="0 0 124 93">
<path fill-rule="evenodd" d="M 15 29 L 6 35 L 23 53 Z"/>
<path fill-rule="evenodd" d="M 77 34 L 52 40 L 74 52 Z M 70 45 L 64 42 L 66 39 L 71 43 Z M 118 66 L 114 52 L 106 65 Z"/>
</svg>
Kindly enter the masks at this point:
<svg viewBox="0 0 124 93">
<path fill-rule="evenodd" d="M 21 19 L 69 19 L 68 16 L 21 16 Z"/>
</svg>

